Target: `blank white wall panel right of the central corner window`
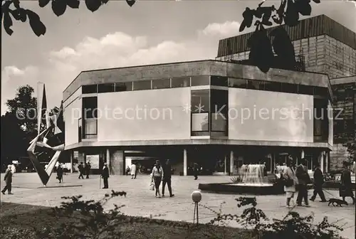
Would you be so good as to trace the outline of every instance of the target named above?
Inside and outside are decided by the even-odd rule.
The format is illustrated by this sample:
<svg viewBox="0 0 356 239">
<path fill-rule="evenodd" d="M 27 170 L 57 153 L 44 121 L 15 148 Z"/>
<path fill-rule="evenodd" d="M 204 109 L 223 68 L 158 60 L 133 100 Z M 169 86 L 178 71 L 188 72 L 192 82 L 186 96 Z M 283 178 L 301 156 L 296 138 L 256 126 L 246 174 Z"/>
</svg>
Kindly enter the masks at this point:
<svg viewBox="0 0 356 239">
<path fill-rule="evenodd" d="M 313 96 L 229 88 L 229 139 L 313 142 Z"/>
</svg>

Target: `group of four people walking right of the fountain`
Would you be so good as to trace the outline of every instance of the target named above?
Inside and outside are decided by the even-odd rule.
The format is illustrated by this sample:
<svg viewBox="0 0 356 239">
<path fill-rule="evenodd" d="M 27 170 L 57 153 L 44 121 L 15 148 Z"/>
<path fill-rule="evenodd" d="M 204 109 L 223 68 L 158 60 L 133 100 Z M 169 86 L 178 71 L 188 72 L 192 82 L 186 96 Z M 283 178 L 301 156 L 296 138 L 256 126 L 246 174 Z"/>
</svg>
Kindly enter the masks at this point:
<svg viewBox="0 0 356 239">
<path fill-rule="evenodd" d="M 302 201 L 304 201 L 304 206 L 309 207 L 308 201 L 308 184 L 310 184 L 311 179 L 308 174 L 308 168 L 305 166 L 305 159 L 300 160 L 298 166 L 293 166 L 293 159 L 291 156 L 288 157 L 286 168 L 283 171 L 282 177 L 284 179 L 284 191 L 286 191 L 286 207 L 293 208 L 291 201 L 294 198 L 296 187 L 298 187 L 298 196 L 296 201 L 296 206 L 302 206 Z M 324 176 L 323 171 L 320 169 L 320 164 L 315 165 L 314 169 L 314 182 L 313 182 L 313 196 L 309 199 L 310 201 L 315 201 L 317 195 L 320 196 L 321 202 L 326 202 L 326 198 L 323 192 Z M 351 183 L 351 172 L 347 168 L 347 162 L 343 164 L 343 171 L 340 180 L 340 197 L 345 201 L 345 197 L 350 196 L 355 204 L 355 197 L 352 192 Z"/>
</svg>

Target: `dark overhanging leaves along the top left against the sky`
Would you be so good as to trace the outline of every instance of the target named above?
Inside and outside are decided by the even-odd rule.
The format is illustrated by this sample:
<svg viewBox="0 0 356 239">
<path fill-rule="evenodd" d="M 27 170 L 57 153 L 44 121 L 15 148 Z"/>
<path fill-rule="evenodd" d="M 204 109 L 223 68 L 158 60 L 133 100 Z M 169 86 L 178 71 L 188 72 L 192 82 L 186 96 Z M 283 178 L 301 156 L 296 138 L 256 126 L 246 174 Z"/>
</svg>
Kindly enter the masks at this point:
<svg viewBox="0 0 356 239">
<path fill-rule="evenodd" d="M 100 9 L 103 4 L 108 4 L 109 0 L 85 0 L 85 6 L 90 11 L 94 12 Z M 136 0 L 126 0 L 129 6 L 133 6 Z M 44 8 L 51 2 L 51 8 L 56 16 L 62 16 L 67 9 L 79 9 L 80 0 L 38 0 L 38 5 Z M 20 0 L 1 0 L 1 21 L 3 22 L 4 30 L 10 36 L 14 33 L 11 29 L 13 26 L 13 18 L 16 21 L 30 23 L 33 33 L 36 36 L 42 36 L 46 33 L 46 26 L 41 21 L 41 18 L 35 12 L 23 9 L 20 6 Z"/>
</svg>

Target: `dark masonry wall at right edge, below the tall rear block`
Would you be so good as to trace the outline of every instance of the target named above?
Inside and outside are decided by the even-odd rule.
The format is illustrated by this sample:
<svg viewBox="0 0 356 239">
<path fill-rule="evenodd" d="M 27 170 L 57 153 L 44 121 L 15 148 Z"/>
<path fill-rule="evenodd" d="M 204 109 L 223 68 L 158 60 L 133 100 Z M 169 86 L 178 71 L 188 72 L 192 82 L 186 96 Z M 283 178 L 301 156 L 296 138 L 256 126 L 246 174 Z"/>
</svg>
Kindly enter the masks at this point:
<svg viewBox="0 0 356 239">
<path fill-rule="evenodd" d="M 340 169 L 347 161 L 347 142 L 356 144 L 356 75 L 330 80 L 333 88 L 334 149 L 330 152 L 330 169 Z M 356 158 L 356 156 L 354 156 Z"/>
</svg>

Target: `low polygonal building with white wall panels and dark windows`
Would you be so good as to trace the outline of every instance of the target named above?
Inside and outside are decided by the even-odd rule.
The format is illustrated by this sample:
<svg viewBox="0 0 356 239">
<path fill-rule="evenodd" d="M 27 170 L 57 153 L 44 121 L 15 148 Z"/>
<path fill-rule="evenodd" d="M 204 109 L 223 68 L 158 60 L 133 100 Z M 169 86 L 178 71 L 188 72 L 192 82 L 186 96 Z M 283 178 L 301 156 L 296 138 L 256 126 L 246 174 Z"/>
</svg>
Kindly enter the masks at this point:
<svg viewBox="0 0 356 239">
<path fill-rule="evenodd" d="M 63 92 L 66 150 L 110 174 L 132 159 L 170 159 L 181 175 L 194 162 L 206 174 L 273 171 L 288 154 L 328 171 L 332 97 L 328 75 L 218 60 L 85 71 Z"/>
</svg>

